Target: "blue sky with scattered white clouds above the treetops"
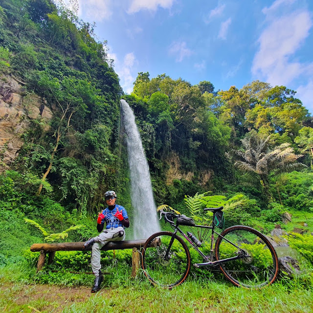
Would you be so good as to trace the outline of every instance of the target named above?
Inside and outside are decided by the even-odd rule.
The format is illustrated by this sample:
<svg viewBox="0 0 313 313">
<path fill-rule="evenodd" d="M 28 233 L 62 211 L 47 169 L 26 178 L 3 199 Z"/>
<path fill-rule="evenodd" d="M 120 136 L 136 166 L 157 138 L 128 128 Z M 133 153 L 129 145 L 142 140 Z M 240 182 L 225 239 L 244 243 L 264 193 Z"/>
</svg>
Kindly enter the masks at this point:
<svg viewBox="0 0 313 313">
<path fill-rule="evenodd" d="M 215 90 L 253 80 L 297 91 L 313 113 L 312 0 L 78 0 L 126 93 L 138 72 Z"/>
</svg>

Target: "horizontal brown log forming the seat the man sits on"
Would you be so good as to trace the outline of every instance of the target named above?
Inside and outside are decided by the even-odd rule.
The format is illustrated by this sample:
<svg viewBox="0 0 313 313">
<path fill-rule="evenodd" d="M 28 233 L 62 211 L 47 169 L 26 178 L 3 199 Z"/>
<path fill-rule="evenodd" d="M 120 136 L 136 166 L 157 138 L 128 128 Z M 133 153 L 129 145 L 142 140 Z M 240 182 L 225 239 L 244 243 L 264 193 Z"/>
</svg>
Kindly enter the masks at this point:
<svg viewBox="0 0 313 313">
<path fill-rule="evenodd" d="M 140 249 L 144 246 L 146 240 L 125 240 L 125 241 L 110 241 L 107 245 L 103 246 L 101 250 L 121 250 L 121 249 Z M 161 242 L 159 238 L 156 238 L 150 245 L 150 247 L 160 246 Z M 44 251 L 44 252 L 54 252 L 54 251 L 85 251 L 84 243 L 57 243 L 57 244 L 33 244 L 30 247 L 30 251 Z M 91 248 L 86 251 L 91 250 Z"/>
</svg>

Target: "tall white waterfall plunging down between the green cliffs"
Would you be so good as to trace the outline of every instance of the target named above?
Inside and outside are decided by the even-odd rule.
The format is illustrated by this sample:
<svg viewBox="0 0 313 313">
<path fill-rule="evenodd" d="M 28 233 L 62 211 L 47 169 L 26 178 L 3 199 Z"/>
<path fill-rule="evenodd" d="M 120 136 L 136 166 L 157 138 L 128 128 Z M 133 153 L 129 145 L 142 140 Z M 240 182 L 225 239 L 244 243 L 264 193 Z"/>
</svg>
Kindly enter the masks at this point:
<svg viewBox="0 0 313 313">
<path fill-rule="evenodd" d="M 134 207 L 134 239 L 148 238 L 160 230 L 153 199 L 149 166 L 142 147 L 135 116 L 122 99 L 122 123 L 126 132 L 128 161 L 131 175 L 132 205 Z"/>
</svg>

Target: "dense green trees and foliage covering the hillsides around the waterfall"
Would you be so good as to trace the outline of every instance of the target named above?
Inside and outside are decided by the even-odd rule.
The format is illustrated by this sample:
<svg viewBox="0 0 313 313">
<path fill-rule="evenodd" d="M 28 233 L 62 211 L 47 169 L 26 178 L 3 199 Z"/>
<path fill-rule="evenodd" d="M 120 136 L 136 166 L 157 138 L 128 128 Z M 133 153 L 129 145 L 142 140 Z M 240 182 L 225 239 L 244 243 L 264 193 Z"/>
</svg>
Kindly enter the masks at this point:
<svg viewBox="0 0 313 313">
<path fill-rule="evenodd" d="M 22 82 L 25 110 L 37 95 L 53 113 L 48 123 L 31 120 L 19 156 L 0 175 L 0 264 L 43 241 L 40 227 L 54 235 L 74 229 L 68 241 L 91 237 L 105 190 L 116 190 L 132 217 L 120 97 L 134 110 L 158 205 L 195 215 L 184 199 L 211 192 L 224 201 L 226 226 L 269 232 L 287 227 L 288 211 L 307 214 L 292 225 L 313 231 L 312 117 L 295 91 L 260 81 L 214 91 L 209 81 L 140 72 L 125 95 L 95 25 L 58 3 L 0 0 L 0 79 Z M 86 261 L 74 255 L 58 262 Z"/>
</svg>

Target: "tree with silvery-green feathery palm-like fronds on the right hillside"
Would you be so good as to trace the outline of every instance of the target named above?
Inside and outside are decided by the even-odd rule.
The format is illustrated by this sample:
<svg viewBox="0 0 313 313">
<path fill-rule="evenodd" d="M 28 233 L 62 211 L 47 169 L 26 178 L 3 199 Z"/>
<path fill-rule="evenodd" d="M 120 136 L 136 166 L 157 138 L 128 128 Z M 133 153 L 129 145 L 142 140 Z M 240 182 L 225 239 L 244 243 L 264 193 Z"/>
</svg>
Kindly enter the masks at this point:
<svg viewBox="0 0 313 313">
<path fill-rule="evenodd" d="M 295 155 L 290 143 L 286 142 L 271 149 L 270 139 L 271 136 L 264 139 L 252 130 L 241 140 L 244 151 L 233 150 L 237 159 L 235 166 L 259 179 L 267 202 L 272 199 L 269 190 L 270 174 L 282 174 L 306 166 L 296 162 L 302 155 Z"/>
</svg>

